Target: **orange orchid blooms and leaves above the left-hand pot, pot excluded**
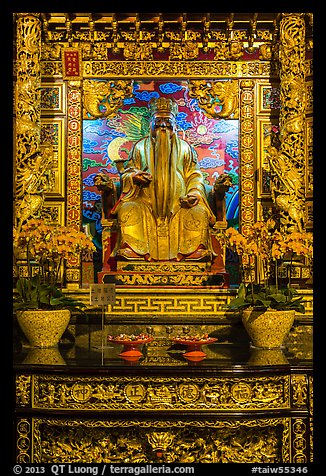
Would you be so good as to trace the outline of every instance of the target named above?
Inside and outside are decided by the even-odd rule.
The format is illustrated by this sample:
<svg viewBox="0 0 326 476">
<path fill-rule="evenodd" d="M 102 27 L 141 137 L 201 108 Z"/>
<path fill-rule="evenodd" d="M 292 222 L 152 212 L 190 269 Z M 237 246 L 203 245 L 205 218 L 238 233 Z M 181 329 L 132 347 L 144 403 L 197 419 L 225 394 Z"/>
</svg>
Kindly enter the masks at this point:
<svg viewBox="0 0 326 476">
<path fill-rule="evenodd" d="M 96 249 L 83 232 L 32 218 L 19 232 L 14 229 L 13 249 L 15 263 L 23 255 L 28 269 L 28 277 L 16 283 L 15 310 L 84 307 L 58 288 L 63 285 L 62 263 Z"/>
</svg>

